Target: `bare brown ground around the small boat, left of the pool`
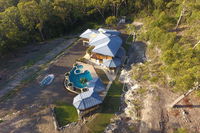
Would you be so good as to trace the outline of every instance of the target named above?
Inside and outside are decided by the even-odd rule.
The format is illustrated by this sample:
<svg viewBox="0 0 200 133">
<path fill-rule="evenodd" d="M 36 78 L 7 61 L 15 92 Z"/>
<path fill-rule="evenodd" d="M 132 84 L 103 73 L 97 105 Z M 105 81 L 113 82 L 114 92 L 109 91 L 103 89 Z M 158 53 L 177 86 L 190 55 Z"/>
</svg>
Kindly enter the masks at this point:
<svg viewBox="0 0 200 133">
<path fill-rule="evenodd" d="M 63 87 L 63 75 L 72 68 L 76 59 L 85 54 L 86 48 L 77 43 L 64 51 L 62 56 L 54 60 L 42 75 L 24 86 L 11 99 L 0 103 L 1 133 L 54 133 L 51 106 L 56 101 L 71 103 L 74 94 Z M 40 87 L 38 82 L 52 73 L 55 79 L 50 86 Z M 64 131 L 63 131 L 64 132 Z"/>
</svg>

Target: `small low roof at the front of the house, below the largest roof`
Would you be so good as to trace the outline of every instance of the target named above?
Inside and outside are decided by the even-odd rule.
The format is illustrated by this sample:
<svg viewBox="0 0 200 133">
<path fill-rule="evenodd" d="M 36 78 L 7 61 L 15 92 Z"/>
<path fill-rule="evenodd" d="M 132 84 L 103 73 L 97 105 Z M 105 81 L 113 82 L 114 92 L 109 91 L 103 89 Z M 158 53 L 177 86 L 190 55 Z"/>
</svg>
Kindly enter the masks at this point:
<svg viewBox="0 0 200 133">
<path fill-rule="evenodd" d="M 107 59 L 104 59 L 103 60 L 103 64 L 107 67 L 118 67 L 121 65 L 121 59 L 119 58 L 113 58 L 112 60 L 107 60 Z"/>
</svg>

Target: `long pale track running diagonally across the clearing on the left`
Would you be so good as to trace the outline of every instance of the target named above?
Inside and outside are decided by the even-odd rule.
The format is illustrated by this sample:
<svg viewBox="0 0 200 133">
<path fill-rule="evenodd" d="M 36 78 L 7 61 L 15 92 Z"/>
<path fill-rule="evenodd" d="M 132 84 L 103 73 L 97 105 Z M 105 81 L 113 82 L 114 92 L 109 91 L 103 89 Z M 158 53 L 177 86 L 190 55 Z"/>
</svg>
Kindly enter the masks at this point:
<svg viewBox="0 0 200 133">
<path fill-rule="evenodd" d="M 74 41 L 75 39 L 69 39 L 67 41 L 64 41 L 61 45 L 57 46 L 52 51 L 48 52 L 42 60 L 35 63 L 33 66 L 15 73 L 13 78 L 10 79 L 10 82 L 8 82 L 7 85 L 1 87 L 0 98 L 4 96 L 6 93 L 8 93 L 9 91 L 19 86 L 23 80 L 30 77 L 31 75 L 38 72 L 39 70 L 41 70 L 42 65 L 54 59 L 60 52 L 62 52 L 67 47 L 69 47 Z"/>
</svg>

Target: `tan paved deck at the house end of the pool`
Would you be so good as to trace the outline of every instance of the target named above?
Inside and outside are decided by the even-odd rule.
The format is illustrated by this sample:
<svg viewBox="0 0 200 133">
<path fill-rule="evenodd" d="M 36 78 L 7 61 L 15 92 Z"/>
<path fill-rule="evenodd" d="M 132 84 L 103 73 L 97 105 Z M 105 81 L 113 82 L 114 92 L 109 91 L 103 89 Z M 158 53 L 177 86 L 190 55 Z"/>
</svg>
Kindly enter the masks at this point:
<svg viewBox="0 0 200 133">
<path fill-rule="evenodd" d="M 86 70 L 90 71 L 90 74 L 91 74 L 91 76 L 92 76 L 93 79 L 99 77 L 92 65 L 85 64 L 83 62 L 76 62 L 76 63 L 78 65 L 82 65 L 83 66 L 83 68 L 82 68 L 83 72 L 86 71 Z"/>
</svg>

